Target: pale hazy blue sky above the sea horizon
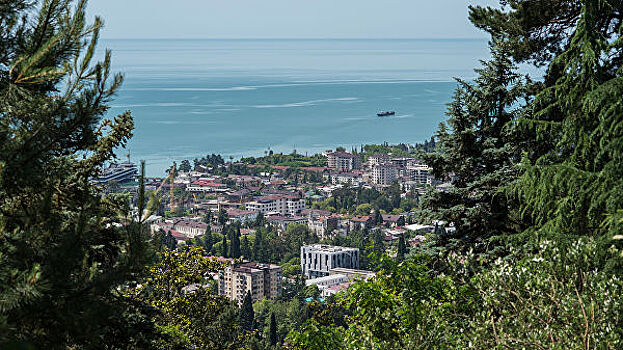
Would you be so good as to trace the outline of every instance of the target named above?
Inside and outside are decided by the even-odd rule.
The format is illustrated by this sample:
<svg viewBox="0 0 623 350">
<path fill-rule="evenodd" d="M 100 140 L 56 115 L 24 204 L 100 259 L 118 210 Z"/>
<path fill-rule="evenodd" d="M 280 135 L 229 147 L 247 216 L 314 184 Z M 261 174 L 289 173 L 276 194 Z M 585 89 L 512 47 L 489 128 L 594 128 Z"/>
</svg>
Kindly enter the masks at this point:
<svg viewBox="0 0 623 350">
<path fill-rule="evenodd" d="M 90 0 L 103 38 L 483 38 L 497 0 Z"/>
</svg>

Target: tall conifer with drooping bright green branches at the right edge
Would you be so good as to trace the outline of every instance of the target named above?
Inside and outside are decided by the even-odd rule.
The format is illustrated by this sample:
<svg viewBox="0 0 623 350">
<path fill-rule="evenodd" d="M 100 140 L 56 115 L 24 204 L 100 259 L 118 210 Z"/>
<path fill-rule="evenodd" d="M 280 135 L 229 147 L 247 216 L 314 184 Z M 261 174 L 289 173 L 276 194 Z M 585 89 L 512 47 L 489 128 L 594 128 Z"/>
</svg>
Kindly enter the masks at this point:
<svg viewBox="0 0 623 350">
<path fill-rule="evenodd" d="M 621 5 L 587 0 L 568 45 L 550 63 L 523 126 L 553 146 L 526 156 L 514 193 L 537 232 L 612 236 L 623 208 Z M 607 244 L 610 245 L 609 237 Z"/>
</svg>

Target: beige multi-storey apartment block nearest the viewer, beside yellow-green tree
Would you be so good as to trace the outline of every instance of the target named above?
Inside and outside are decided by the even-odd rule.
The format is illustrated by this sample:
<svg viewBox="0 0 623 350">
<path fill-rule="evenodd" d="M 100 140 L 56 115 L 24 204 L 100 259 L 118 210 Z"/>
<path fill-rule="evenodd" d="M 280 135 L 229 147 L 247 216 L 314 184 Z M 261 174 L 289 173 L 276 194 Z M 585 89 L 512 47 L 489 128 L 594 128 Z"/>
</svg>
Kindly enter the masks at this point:
<svg viewBox="0 0 623 350">
<path fill-rule="evenodd" d="M 242 304 L 251 299 L 275 299 L 281 294 L 281 266 L 247 262 L 230 265 L 219 274 L 219 294 Z"/>
</svg>

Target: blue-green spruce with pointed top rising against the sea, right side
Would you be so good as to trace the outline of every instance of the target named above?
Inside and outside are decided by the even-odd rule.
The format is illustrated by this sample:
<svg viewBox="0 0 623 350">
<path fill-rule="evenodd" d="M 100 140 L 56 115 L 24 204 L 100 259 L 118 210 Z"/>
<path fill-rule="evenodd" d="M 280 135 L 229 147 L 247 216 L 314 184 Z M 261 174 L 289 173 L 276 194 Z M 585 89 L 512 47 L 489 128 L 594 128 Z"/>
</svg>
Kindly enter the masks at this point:
<svg viewBox="0 0 623 350">
<path fill-rule="evenodd" d="M 448 191 L 423 198 L 425 217 L 453 223 L 453 238 L 481 253 L 493 249 L 492 237 L 518 230 L 502 187 L 517 177 L 521 147 L 513 126 L 521 104 L 529 101 L 508 51 L 493 41 L 491 53 L 474 83 L 458 80 L 449 118 L 437 133 L 437 151 L 423 157 L 436 178 L 453 174 Z"/>
</svg>

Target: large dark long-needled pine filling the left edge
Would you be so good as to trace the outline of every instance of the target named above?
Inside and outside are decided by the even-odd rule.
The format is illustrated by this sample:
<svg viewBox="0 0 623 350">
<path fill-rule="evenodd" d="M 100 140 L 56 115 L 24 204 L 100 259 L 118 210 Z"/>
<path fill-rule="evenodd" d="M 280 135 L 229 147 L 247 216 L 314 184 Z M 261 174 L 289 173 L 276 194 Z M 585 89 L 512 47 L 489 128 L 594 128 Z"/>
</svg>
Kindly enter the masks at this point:
<svg viewBox="0 0 623 350">
<path fill-rule="evenodd" d="M 0 6 L 2 348 L 141 348 L 153 330 L 116 291 L 146 263 L 147 230 L 128 219 L 126 196 L 90 182 L 134 124 L 130 112 L 103 119 L 123 78 L 109 51 L 94 62 L 102 21 L 85 10 Z"/>
</svg>

